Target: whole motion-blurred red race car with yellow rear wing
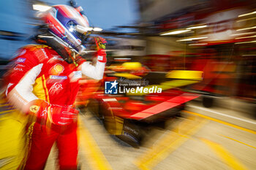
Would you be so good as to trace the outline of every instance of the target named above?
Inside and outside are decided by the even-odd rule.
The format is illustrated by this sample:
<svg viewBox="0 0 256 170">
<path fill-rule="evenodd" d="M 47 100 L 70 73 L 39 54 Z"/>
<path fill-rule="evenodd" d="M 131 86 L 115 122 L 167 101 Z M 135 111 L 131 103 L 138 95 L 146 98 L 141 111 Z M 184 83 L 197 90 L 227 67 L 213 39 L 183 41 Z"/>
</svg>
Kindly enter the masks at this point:
<svg viewBox="0 0 256 170">
<path fill-rule="evenodd" d="M 132 93 L 132 90 L 121 90 L 116 94 L 107 94 L 105 83 L 97 88 L 98 84 L 89 85 L 87 82 L 86 87 L 90 88 L 83 88 L 83 93 L 86 94 L 86 98 L 91 99 L 86 102 L 86 107 L 102 120 L 109 134 L 117 136 L 132 147 L 139 147 L 144 128 L 164 125 L 166 120 L 180 115 L 187 101 L 199 96 L 184 92 L 180 88 L 200 82 L 202 74 L 197 71 L 148 72 L 145 76 L 139 77 L 127 72 L 110 72 L 104 82 L 116 82 L 122 89 L 127 86 L 121 86 L 121 83 L 130 81 L 134 84 L 137 81 L 141 85 L 136 84 L 137 88 L 129 86 L 129 89 L 139 90 L 136 93 Z M 143 82 L 148 82 L 148 85 L 143 85 Z M 151 90 L 155 87 L 161 88 L 161 93 Z M 95 91 L 91 93 L 91 89 Z M 78 101 L 83 101 L 81 96 L 78 96 Z"/>
</svg>

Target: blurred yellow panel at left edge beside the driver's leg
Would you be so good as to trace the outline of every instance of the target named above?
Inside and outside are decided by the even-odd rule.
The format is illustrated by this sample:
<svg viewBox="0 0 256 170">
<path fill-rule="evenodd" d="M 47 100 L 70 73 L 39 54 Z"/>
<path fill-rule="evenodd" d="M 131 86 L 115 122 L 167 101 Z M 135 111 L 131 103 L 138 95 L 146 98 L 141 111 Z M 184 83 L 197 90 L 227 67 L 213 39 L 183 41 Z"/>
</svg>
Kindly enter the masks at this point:
<svg viewBox="0 0 256 170">
<path fill-rule="evenodd" d="M 25 154 L 25 116 L 18 111 L 0 115 L 0 169 L 17 169 Z"/>
</svg>

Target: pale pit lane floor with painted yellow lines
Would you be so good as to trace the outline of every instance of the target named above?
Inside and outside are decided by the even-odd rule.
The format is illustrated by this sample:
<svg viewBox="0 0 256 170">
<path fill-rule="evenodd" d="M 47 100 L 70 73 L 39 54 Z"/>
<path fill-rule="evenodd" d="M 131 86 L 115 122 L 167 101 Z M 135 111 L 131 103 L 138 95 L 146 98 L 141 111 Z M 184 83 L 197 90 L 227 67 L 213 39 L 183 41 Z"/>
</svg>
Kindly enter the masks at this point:
<svg viewBox="0 0 256 170">
<path fill-rule="evenodd" d="M 190 103 L 183 117 L 149 131 L 139 149 L 111 137 L 89 112 L 80 116 L 81 169 L 256 169 L 256 121 Z M 216 114 L 215 114 L 216 115 Z M 239 123 L 241 120 L 242 123 Z M 243 122 L 245 120 L 245 122 Z M 54 169 L 56 150 L 45 169 Z"/>
</svg>

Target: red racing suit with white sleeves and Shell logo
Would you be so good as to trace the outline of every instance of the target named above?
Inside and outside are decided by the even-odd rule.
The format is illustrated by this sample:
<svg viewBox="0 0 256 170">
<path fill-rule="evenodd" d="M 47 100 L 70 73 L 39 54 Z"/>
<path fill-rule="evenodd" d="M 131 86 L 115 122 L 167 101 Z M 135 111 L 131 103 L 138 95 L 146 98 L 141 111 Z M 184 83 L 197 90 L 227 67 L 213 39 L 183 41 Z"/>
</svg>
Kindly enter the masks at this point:
<svg viewBox="0 0 256 170">
<path fill-rule="evenodd" d="M 79 68 L 79 69 L 78 69 Z M 82 74 L 96 80 L 103 77 L 105 63 L 89 62 L 79 67 L 69 64 L 51 47 L 28 45 L 19 50 L 7 74 L 6 95 L 11 104 L 23 110 L 31 101 L 42 99 L 49 104 L 72 107 Z M 78 155 L 77 120 L 69 125 L 50 126 L 36 120 L 27 128 L 29 152 L 21 169 L 44 169 L 50 149 L 59 147 L 60 169 L 76 169 Z"/>
</svg>

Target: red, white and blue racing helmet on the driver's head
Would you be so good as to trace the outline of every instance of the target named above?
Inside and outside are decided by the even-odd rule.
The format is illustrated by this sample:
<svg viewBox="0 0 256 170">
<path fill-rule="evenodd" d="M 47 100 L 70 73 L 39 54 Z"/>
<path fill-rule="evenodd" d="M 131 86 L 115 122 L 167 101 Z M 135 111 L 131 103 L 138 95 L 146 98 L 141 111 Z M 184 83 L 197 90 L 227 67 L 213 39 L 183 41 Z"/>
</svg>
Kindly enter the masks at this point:
<svg viewBox="0 0 256 170">
<path fill-rule="evenodd" d="M 80 12 L 80 8 L 55 5 L 45 12 L 42 20 L 48 25 L 50 34 L 66 47 L 79 54 L 86 49 L 84 40 L 89 31 L 89 20 Z"/>
</svg>

